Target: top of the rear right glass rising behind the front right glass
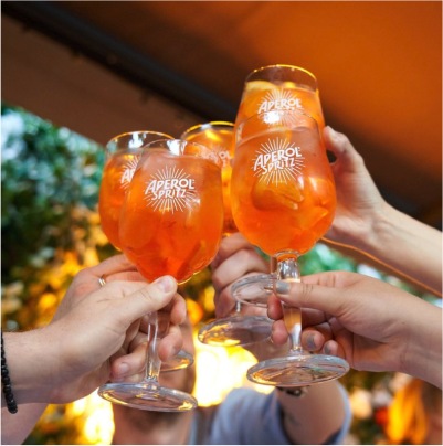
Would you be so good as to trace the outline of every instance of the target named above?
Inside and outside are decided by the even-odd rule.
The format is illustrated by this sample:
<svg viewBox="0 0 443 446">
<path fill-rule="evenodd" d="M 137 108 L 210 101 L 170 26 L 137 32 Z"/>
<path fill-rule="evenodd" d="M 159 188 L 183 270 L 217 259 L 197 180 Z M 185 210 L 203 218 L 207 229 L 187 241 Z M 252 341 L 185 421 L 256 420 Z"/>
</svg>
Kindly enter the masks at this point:
<svg viewBox="0 0 443 446">
<path fill-rule="evenodd" d="M 245 81 L 235 125 L 256 114 L 298 110 L 325 127 L 317 79 L 305 68 L 268 65 L 253 71 Z"/>
</svg>

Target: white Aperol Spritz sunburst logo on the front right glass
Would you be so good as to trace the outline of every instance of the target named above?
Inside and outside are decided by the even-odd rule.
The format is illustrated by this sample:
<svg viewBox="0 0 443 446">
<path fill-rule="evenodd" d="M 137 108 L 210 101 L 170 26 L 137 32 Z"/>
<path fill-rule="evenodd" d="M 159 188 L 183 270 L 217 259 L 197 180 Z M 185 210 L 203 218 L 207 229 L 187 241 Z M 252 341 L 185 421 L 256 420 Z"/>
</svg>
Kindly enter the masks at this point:
<svg viewBox="0 0 443 446">
<path fill-rule="evenodd" d="M 262 144 L 253 160 L 254 174 L 264 177 L 266 183 L 292 181 L 299 176 L 304 166 L 302 148 L 287 139 L 268 139 Z"/>
</svg>

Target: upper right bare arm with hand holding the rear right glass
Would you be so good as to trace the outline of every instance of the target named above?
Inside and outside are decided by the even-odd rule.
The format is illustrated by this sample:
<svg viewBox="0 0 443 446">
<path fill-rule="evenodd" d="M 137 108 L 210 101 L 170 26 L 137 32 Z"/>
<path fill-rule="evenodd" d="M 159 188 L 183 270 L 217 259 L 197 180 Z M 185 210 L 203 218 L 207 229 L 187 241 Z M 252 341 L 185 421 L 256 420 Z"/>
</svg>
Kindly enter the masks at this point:
<svg viewBox="0 0 443 446">
<path fill-rule="evenodd" d="M 358 249 L 390 269 L 442 293 L 442 233 L 395 210 L 381 197 L 361 156 L 331 128 L 325 142 L 337 160 L 337 211 L 326 238 Z"/>
</svg>

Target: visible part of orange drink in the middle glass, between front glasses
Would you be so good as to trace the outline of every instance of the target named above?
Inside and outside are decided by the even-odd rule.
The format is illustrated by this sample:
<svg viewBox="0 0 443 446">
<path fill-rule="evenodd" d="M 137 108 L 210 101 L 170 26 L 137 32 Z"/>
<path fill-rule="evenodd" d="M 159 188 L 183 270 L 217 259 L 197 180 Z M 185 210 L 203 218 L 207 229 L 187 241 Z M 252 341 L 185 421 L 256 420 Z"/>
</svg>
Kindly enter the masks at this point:
<svg viewBox="0 0 443 446">
<path fill-rule="evenodd" d="M 222 164 L 222 187 L 224 204 L 223 233 L 236 232 L 231 211 L 231 176 L 232 159 L 234 158 L 234 124 L 226 121 L 211 121 L 188 128 L 182 135 L 187 141 L 200 142 L 213 150 Z"/>
</svg>

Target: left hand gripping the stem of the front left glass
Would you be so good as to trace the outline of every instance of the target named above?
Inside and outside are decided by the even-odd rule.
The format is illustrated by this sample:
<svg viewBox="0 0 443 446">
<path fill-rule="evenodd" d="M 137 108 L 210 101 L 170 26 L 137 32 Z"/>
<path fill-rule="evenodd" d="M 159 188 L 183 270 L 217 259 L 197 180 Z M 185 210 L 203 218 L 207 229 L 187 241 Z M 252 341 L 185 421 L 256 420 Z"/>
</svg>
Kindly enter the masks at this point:
<svg viewBox="0 0 443 446">
<path fill-rule="evenodd" d="M 101 287 L 98 277 L 105 277 Z M 182 343 L 178 328 L 186 318 L 186 302 L 176 294 L 177 283 L 170 276 L 152 284 L 134 269 L 123 256 L 115 256 L 77 274 L 59 307 L 53 321 L 40 331 L 41 341 L 51 344 L 56 353 L 51 380 L 45 381 L 52 403 L 82 397 L 109 379 L 113 371 L 125 364 L 122 373 L 136 373 L 130 361 L 118 359 L 131 351 L 131 343 L 143 332 L 143 317 L 159 309 L 170 314 L 171 328 L 160 343 L 159 355 L 176 354 Z M 127 357 L 126 357 L 127 358 Z"/>
</svg>

